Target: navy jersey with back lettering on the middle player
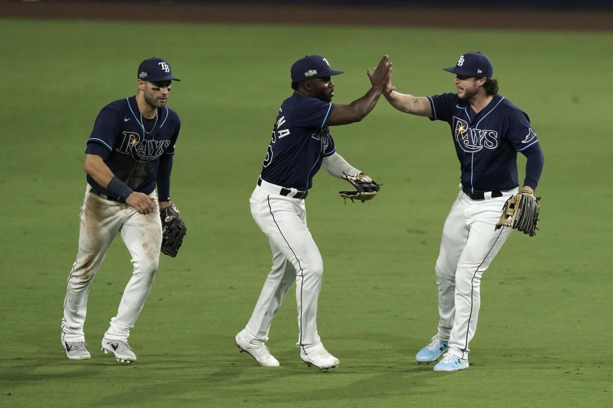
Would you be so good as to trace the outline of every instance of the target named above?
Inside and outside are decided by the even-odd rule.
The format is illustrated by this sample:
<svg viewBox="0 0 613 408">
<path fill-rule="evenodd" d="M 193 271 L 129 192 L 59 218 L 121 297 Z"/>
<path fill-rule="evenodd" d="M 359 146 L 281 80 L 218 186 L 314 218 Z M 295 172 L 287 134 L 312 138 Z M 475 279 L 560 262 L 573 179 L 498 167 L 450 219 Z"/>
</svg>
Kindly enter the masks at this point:
<svg viewBox="0 0 613 408">
<path fill-rule="evenodd" d="M 294 93 L 281 104 L 262 165 L 262 180 L 308 190 L 324 157 L 334 154 L 327 125 L 332 103 Z"/>
</svg>

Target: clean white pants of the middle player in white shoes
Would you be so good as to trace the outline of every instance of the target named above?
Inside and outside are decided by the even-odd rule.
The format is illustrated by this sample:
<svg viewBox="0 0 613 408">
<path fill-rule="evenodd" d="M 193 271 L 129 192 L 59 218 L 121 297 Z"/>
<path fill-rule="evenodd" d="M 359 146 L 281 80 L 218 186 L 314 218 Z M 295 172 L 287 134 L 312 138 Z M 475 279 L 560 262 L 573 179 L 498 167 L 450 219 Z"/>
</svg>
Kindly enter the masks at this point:
<svg viewBox="0 0 613 408">
<path fill-rule="evenodd" d="M 324 264 L 307 228 L 307 212 L 302 199 L 279 195 L 281 187 L 262 180 L 249 203 L 251 215 L 268 237 L 272 269 L 264 282 L 256 307 L 246 325 L 252 343 L 268 340 L 275 313 L 294 281 L 298 308 L 298 341 L 303 352 L 318 348 L 317 301 L 321 291 Z"/>
</svg>

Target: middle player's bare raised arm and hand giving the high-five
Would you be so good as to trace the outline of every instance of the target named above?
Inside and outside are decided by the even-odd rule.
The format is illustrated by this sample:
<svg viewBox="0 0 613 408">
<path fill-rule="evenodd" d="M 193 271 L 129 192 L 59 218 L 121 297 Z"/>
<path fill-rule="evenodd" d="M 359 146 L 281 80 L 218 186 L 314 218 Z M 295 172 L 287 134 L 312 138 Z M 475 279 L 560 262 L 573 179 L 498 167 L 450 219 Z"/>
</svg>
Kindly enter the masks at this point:
<svg viewBox="0 0 613 408">
<path fill-rule="evenodd" d="M 367 116 L 374 108 L 381 93 L 389 82 L 390 70 L 392 63 L 389 62 L 389 56 L 384 55 L 379 61 L 378 67 L 374 72 L 367 70 L 368 78 L 370 78 L 371 87 L 363 97 L 354 100 L 349 105 L 339 105 L 335 103 L 328 119 L 328 125 L 347 125 L 354 122 L 359 122 Z"/>
</svg>

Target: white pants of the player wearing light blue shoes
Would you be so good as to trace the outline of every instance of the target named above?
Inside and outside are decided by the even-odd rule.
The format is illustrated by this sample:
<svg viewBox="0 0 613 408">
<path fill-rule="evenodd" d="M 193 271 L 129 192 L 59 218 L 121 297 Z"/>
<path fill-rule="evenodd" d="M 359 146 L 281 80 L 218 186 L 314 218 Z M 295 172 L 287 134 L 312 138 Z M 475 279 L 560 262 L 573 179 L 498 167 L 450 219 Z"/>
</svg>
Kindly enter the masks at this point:
<svg viewBox="0 0 613 408">
<path fill-rule="evenodd" d="M 443 226 L 441 249 L 436 260 L 438 284 L 438 333 L 449 341 L 449 351 L 467 358 L 468 343 L 477 328 L 481 306 L 481 275 L 500 251 L 511 228 L 496 230 L 502 207 L 514 190 L 503 196 L 471 200 L 460 190 Z"/>
</svg>

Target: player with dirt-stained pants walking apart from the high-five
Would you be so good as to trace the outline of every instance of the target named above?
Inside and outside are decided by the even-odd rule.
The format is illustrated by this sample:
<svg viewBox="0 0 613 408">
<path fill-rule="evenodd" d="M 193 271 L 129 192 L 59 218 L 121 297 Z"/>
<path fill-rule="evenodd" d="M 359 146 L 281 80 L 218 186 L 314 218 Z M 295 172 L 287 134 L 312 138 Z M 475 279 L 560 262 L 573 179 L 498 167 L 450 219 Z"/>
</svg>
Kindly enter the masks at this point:
<svg viewBox="0 0 613 408">
<path fill-rule="evenodd" d="M 137 73 L 137 94 L 102 108 L 87 141 L 78 253 L 66 284 L 61 325 L 68 358 L 90 357 L 83 334 L 89 286 L 119 232 L 134 271 L 104 333 L 102 350 L 121 362 L 136 360 L 128 336 L 158 270 L 159 207 L 171 204 L 170 171 L 180 128 L 177 113 L 166 106 L 171 81 L 180 80 L 172 76 L 168 61 L 145 59 Z"/>
</svg>

